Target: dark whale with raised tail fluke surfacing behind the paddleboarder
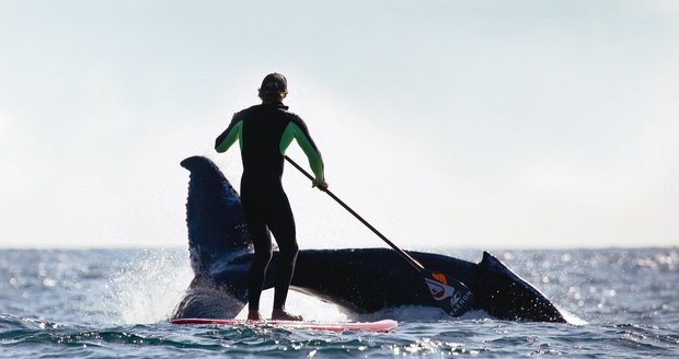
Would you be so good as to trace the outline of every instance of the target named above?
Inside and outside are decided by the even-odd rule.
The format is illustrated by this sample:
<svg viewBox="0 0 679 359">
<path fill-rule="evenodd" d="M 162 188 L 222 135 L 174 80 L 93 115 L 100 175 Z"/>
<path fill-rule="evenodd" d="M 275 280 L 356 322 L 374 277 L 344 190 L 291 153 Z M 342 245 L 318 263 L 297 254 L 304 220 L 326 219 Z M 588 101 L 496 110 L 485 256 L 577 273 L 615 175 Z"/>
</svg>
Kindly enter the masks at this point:
<svg viewBox="0 0 679 359">
<path fill-rule="evenodd" d="M 253 259 L 239 194 L 206 157 L 187 158 L 181 165 L 189 172 L 186 225 L 194 278 L 171 319 L 233 319 L 248 303 Z M 552 301 L 488 252 L 479 263 L 405 252 L 427 269 L 467 285 L 474 296 L 472 310 L 498 320 L 566 323 Z M 265 289 L 274 287 L 277 263 L 275 251 Z M 355 314 L 438 306 L 422 276 L 395 251 L 380 247 L 300 250 L 290 289 Z"/>
</svg>

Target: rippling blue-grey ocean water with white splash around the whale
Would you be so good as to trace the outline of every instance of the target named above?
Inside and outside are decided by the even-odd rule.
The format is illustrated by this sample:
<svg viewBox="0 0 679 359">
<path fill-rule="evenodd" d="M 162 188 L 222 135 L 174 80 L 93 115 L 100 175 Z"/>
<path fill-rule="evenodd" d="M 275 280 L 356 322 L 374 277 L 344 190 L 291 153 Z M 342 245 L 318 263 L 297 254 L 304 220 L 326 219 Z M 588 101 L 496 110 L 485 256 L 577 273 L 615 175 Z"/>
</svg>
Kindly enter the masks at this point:
<svg viewBox="0 0 679 359">
<path fill-rule="evenodd" d="M 481 251 L 442 253 L 479 262 Z M 0 250 L 0 358 L 679 358 L 679 248 L 494 251 L 569 324 L 399 308 L 352 316 L 294 293 L 310 320 L 399 320 L 390 333 L 166 322 L 193 274 L 184 248 Z M 268 296 L 268 297 L 267 297 Z M 263 308 L 271 301 L 265 292 Z M 239 316 L 242 316 L 241 313 Z"/>
</svg>

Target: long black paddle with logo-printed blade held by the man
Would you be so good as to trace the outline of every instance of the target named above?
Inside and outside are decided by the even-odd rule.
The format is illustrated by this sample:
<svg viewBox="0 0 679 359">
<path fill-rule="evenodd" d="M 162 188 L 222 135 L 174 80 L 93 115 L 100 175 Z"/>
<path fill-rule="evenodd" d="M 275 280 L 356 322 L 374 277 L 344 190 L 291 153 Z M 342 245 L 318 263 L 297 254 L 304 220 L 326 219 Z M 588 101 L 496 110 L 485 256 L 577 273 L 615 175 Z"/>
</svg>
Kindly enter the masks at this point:
<svg viewBox="0 0 679 359">
<path fill-rule="evenodd" d="M 307 178 L 313 182 L 313 177 L 304 171 L 297 162 L 292 161 L 289 157 L 285 157 L 285 159 L 290 162 L 299 172 L 301 172 Z M 368 229 L 372 231 L 372 233 L 377 234 L 384 243 L 389 244 L 403 259 L 405 259 L 415 270 L 423 276 L 425 285 L 427 289 L 431 293 L 431 298 L 434 298 L 434 302 L 440 306 L 446 313 L 451 316 L 460 316 L 464 314 L 472 308 L 474 302 L 474 296 L 471 290 L 467 288 L 462 282 L 457 279 L 453 279 L 446 274 L 435 273 L 427 268 L 425 268 L 419 262 L 415 260 L 415 258 L 411 257 L 410 254 L 403 252 L 395 244 L 393 244 L 389 239 L 387 239 L 380 231 L 378 231 L 375 227 L 372 227 L 368 221 L 362 219 L 356 211 L 354 211 L 349 206 L 347 206 L 342 199 L 337 198 L 330 189 L 322 189 L 332 199 L 334 199 L 337 204 L 340 204 L 344 209 L 346 209 L 349 213 L 354 215 L 356 219 L 358 219 L 361 223 L 364 223 Z"/>
</svg>

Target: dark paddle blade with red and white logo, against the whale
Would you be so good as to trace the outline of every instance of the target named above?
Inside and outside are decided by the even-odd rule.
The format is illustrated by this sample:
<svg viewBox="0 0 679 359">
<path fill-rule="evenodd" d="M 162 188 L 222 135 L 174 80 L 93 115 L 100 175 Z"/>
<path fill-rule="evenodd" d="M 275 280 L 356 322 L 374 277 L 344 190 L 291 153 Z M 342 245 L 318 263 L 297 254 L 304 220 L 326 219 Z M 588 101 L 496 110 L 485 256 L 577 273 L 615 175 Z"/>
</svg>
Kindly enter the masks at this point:
<svg viewBox="0 0 679 359">
<path fill-rule="evenodd" d="M 472 309 L 474 294 L 460 281 L 442 273 L 425 270 L 425 285 L 431 298 L 450 316 L 460 316 Z"/>
</svg>

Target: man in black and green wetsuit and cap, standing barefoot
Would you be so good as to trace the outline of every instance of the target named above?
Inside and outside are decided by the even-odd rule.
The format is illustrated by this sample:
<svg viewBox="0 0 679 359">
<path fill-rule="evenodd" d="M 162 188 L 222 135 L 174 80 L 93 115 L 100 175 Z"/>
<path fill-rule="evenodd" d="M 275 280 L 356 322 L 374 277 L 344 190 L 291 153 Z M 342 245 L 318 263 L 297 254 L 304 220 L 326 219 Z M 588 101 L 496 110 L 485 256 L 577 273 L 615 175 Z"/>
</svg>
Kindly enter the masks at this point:
<svg viewBox="0 0 679 359">
<path fill-rule="evenodd" d="M 272 320 L 302 320 L 301 315 L 285 310 L 298 252 L 292 210 L 280 183 L 285 151 L 292 139 L 297 140 L 309 159 L 315 175 L 313 186 L 321 190 L 327 188 L 323 159 L 307 125 L 283 104 L 287 94 L 286 78 L 280 73 L 267 74 L 260 88 L 262 104 L 233 115 L 229 127 L 215 142 L 217 152 L 227 151 L 237 139 L 241 147 L 241 204 L 255 250 L 249 277 L 248 320 L 251 321 L 262 320 L 260 296 L 266 267 L 272 259 L 269 230 L 280 251 Z"/>
</svg>

